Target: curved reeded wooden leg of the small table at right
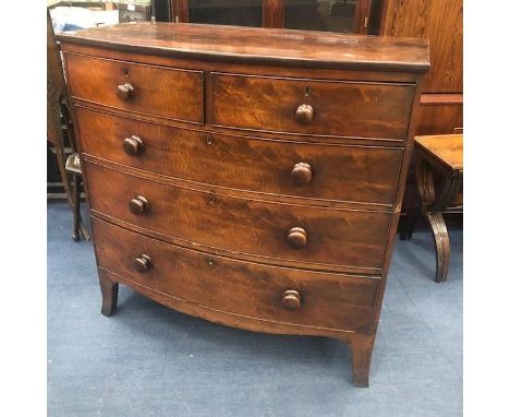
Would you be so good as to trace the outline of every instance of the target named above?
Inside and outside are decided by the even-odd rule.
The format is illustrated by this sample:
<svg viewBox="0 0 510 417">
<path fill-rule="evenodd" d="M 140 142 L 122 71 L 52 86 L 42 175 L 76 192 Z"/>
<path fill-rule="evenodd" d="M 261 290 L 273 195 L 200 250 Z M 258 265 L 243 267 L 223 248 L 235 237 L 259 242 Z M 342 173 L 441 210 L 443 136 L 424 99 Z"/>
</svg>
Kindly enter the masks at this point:
<svg viewBox="0 0 510 417">
<path fill-rule="evenodd" d="M 436 196 L 430 166 L 416 157 L 416 183 L 422 199 L 422 213 L 428 221 L 436 245 L 436 283 L 442 283 L 450 263 L 450 239 L 441 212 L 448 207 L 462 186 L 462 171 L 452 171 L 445 177 L 441 192 Z"/>
</svg>

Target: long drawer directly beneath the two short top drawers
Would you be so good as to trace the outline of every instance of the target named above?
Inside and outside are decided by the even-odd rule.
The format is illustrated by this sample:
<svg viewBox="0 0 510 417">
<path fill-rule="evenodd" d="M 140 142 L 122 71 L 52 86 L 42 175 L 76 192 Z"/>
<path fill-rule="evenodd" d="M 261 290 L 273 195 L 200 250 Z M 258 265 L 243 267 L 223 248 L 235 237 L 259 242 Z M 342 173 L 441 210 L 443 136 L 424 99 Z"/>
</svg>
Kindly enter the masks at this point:
<svg viewBox="0 0 510 417">
<path fill-rule="evenodd" d="M 400 148 L 207 134 L 80 107 L 76 115 L 82 151 L 119 164 L 255 192 L 377 204 L 394 199 Z"/>
</svg>

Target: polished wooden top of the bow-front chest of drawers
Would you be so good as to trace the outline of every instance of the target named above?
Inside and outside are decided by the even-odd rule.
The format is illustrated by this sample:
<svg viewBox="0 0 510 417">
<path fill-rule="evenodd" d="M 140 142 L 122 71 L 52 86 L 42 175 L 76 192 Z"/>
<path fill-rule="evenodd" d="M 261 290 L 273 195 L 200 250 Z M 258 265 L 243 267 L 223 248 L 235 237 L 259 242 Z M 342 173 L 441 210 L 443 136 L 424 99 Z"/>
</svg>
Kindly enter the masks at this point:
<svg viewBox="0 0 510 417">
<path fill-rule="evenodd" d="M 57 39 L 191 59 L 409 72 L 429 68 L 427 39 L 161 22 L 65 32 Z"/>
</svg>

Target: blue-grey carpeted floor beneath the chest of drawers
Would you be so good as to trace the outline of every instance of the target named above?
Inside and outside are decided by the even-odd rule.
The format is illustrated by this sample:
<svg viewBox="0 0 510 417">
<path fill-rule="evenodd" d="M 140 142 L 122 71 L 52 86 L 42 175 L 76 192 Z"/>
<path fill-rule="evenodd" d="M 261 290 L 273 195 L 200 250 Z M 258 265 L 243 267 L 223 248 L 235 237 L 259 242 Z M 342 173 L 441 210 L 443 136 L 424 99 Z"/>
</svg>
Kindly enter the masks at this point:
<svg viewBox="0 0 510 417">
<path fill-rule="evenodd" d="M 127 287 L 100 314 L 94 250 L 48 205 L 48 416 L 461 416 L 462 231 L 435 284 L 430 235 L 397 241 L 371 388 L 348 346 L 211 324 Z"/>
</svg>

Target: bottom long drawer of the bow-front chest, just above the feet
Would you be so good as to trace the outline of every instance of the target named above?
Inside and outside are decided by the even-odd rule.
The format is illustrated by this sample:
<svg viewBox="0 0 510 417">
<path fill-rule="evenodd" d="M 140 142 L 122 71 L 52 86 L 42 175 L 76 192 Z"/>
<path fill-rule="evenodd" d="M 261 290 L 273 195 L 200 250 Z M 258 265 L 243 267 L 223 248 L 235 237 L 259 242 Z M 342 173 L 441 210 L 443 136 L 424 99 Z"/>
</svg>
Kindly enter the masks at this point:
<svg viewBox="0 0 510 417">
<path fill-rule="evenodd" d="M 280 323 L 369 330 L 379 278 L 241 262 L 93 226 L 99 266 L 169 297 Z"/>
</svg>

